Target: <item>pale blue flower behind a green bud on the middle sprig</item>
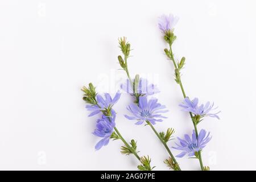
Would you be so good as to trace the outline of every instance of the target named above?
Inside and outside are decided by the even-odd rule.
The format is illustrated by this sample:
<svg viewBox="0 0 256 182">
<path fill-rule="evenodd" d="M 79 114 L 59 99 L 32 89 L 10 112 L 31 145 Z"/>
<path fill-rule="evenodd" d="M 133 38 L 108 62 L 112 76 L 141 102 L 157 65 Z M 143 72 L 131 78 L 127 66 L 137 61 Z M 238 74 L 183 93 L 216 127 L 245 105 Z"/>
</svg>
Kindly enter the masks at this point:
<svg viewBox="0 0 256 182">
<path fill-rule="evenodd" d="M 126 93 L 130 93 L 131 95 L 134 94 L 133 85 L 131 85 L 131 82 L 128 79 L 121 84 L 121 89 L 124 90 Z M 158 90 L 156 85 L 149 84 L 147 79 L 144 78 L 139 79 L 137 89 L 135 90 L 135 93 L 141 94 L 141 96 L 150 96 L 159 92 L 160 91 Z"/>
</svg>

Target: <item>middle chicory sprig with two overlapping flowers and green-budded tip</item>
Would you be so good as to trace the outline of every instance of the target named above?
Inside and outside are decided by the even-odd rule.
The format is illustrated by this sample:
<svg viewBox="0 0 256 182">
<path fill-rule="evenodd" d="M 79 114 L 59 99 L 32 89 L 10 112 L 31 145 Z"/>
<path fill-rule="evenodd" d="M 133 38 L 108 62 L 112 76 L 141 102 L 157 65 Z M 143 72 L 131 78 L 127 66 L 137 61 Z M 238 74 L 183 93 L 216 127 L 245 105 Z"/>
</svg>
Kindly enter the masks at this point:
<svg viewBox="0 0 256 182">
<path fill-rule="evenodd" d="M 167 118 L 160 114 L 166 113 L 168 111 L 163 110 L 166 108 L 166 106 L 159 104 L 158 100 L 156 99 L 147 100 L 147 96 L 158 93 L 159 90 L 154 84 L 148 84 L 145 80 L 144 82 L 146 82 L 146 84 L 144 84 L 144 86 L 140 86 L 143 80 L 139 78 L 139 75 L 136 75 L 134 79 L 131 79 L 127 65 L 127 57 L 129 55 L 127 55 L 125 51 L 128 45 L 128 48 L 130 49 L 130 44 L 126 43 L 126 38 L 121 38 L 119 39 L 119 45 L 123 53 L 123 57 L 125 57 L 125 61 L 122 61 L 122 56 L 118 56 L 119 64 L 126 71 L 126 75 L 128 77 L 126 83 L 121 84 L 121 88 L 135 98 L 135 104 L 131 104 L 127 107 L 127 110 L 129 110 L 133 115 L 125 115 L 125 117 L 130 120 L 136 120 L 137 122 L 135 123 L 135 125 L 141 125 L 142 123 L 146 122 L 146 125 L 149 125 L 151 127 L 151 129 L 154 131 L 154 133 L 156 134 L 160 142 L 162 142 L 168 154 L 170 155 L 172 162 L 174 163 L 171 168 L 181 171 L 179 164 L 175 159 L 175 156 L 172 154 L 170 148 L 167 146 L 167 142 L 168 140 L 170 140 L 172 134 L 170 133 L 171 130 L 167 130 L 167 134 L 164 134 L 162 132 L 159 133 L 155 130 L 155 127 L 153 126 L 156 122 L 162 122 L 162 118 Z M 171 165 L 169 165 L 169 167 L 170 166 Z"/>
</svg>

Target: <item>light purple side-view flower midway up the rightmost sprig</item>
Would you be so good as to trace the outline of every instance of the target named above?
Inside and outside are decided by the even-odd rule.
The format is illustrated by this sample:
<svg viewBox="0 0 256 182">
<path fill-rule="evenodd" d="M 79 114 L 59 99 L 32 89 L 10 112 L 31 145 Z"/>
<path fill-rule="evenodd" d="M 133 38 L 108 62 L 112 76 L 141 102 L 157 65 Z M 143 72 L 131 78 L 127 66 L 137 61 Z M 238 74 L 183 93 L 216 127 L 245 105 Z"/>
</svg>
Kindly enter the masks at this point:
<svg viewBox="0 0 256 182">
<path fill-rule="evenodd" d="M 198 105 L 198 103 L 199 103 L 198 98 L 194 98 L 191 101 L 189 100 L 188 97 L 186 97 L 184 99 L 184 102 L 179 106 L 183 108 L 182 109 L 183 111 L 188 111 L 195 115 L 200 115 L 200 117 L 209 116 L 209 117 L 220 119 L 220 117 L 218 117 L 217 115 L 218 113 L 220 113 L 220 111 L 218 111 L 217 113 L 209 113 L 210 111 L 217 109 L 217 107 L 213 108 L 214 103 L 210 104 L 210 102 L 207 102 L 205 105 L 201 104 L 200 106 Z"/>
</svg>

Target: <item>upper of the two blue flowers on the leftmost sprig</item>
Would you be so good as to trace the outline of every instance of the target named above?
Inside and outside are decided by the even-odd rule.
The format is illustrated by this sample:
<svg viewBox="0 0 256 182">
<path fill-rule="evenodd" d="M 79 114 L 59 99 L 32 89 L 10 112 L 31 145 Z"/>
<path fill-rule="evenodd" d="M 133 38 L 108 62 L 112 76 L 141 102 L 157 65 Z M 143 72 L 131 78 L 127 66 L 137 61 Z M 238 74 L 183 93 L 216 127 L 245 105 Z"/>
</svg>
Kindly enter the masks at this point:
<svg viewBox="0 0 256 182">
<path fill-rule="evenodd" d="M 86 109 L 92 111 L 92 113 L 89 114 L 89 117 L 106 109 L 111 110 L 113 105 L 119 100 L 121 93 L 118 91 L 113 99 L 109 93 L 105 93 L 104 96 L 105 99 L 100 94 L 97 94 L 96 99 L 98 105 L 86 105 Z"/>
</svg>

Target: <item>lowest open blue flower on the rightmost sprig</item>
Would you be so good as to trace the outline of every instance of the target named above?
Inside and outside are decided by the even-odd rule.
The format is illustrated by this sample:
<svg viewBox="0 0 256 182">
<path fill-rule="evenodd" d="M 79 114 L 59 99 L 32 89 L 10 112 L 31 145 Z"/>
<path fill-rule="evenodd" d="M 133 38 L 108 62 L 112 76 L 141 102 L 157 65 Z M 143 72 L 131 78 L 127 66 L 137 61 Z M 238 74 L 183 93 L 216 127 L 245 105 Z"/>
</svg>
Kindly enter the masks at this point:
<svg viewBox="0 0 256 182">
<path fill-rule="evenodd" d="M 209 137 L 210 133 L 208 133 L 207 136 L 206 134 L 207 134 L 207 131 L 201 130 L 196 139 L 196 133 L 195 133 L 195 130 L 193 130 L 192 138 L 190 138 L 187 134 L 184 135 L 184 138 L 185 138 L 184 140 L 178 137 L 177 139 L 179 139 L 180 144 L 175 143 L 177 147 L 172 147 L 172 148 L 181 150 L 183 152 L 181 152 L 176 157 L 182 158 L 186 154 L 188 154 L 188 156 L 194 156 L 195 152 L 201 151 L 212 138 L 212 137 Z"/>
</svg>

